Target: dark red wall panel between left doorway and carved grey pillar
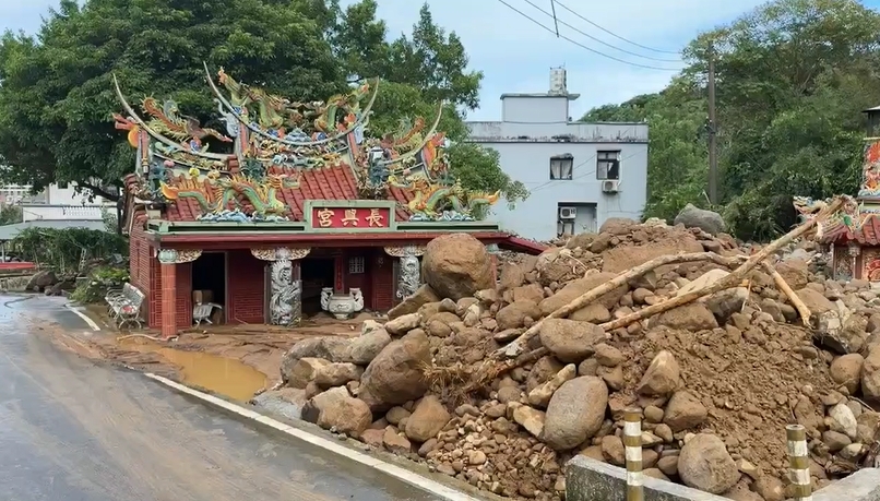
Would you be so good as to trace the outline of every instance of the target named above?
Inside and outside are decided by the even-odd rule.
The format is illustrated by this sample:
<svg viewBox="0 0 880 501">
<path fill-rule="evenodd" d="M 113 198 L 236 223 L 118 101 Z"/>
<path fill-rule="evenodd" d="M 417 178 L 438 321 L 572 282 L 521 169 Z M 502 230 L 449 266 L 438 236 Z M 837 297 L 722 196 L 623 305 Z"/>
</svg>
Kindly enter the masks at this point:
<svg viewBox="0 0 880 501">
<path fill-rule="evenodd" d="M 266 261 L 253 257 L 250 251 L 229 251 L 226 254 L 229 274 L 227 321 L 229 323 L 264 323 L 265 266 Z"/>
</svg>

